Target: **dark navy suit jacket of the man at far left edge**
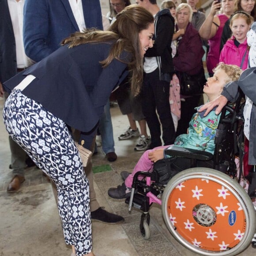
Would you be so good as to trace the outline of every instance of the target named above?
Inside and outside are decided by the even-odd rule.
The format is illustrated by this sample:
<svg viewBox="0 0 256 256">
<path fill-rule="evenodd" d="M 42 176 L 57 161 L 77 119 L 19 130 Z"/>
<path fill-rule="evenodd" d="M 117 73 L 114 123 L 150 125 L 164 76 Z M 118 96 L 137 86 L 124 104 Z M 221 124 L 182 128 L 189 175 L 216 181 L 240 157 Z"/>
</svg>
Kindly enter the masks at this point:
<svg viewBox="0 0 256 256">
<path fill-rule="evenodd" d="M 0 82 L 17 74 L 16 45 L 7 0 L 0 0 Z"/>
</svg>

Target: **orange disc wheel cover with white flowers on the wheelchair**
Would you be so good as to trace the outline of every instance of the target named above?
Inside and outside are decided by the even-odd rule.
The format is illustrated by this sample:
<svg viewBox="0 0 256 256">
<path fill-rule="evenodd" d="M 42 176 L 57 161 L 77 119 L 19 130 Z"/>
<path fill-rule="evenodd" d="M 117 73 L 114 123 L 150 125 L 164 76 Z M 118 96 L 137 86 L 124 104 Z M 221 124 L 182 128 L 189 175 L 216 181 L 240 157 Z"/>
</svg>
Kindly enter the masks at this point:
<svg viewBox="0 0 256 256">
<path fill-rule="evenodd" d="M 220 252 L 233 248 L 244 235 L 244 210 L 236 197 L 215 181 L 194 178 L 178 184 L 166 207 L 176 232 L 201 249 Z"/>
</svg>

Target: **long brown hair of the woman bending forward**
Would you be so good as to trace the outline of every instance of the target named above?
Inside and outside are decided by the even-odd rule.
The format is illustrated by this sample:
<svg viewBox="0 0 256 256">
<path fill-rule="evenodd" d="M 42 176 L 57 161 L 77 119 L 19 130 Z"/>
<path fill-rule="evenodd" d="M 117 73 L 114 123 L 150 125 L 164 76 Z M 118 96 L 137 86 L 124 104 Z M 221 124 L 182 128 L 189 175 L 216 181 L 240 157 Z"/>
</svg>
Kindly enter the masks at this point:
<svg viewBox="0 0 256 256">
<path fill-rule="evenodd" d="M 116 18 L 117 20 L 110 26 L 109 31 L 76 32 L 64 39 L 62 45 L 69 44 L 69 47 L 72 48 L 86 43 L 112 43 L 109 56 L 100 62 L 103 68 L 108 66 L 113 59 L 120 60 L 120 54 L 123 51 L 128 52 L 131 55 L 131 60 L 127 63 L 129 71 L 132 72 L 131 90 L 134 95 L 137 95 L 143 80 L 143 56 L 141 55 L 139 32 L 154 23 L 154 17 L 143 7 L 129 5 L 118 13 Z"/>
</svg>

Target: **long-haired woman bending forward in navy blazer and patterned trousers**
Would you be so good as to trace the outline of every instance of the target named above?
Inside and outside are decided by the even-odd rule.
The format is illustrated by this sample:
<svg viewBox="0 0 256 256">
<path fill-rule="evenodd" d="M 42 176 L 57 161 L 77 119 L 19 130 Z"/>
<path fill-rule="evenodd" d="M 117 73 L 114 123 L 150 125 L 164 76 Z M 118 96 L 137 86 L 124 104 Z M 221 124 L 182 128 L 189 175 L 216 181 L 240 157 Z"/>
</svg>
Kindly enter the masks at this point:
<svg viewBox="0 0 256 256">
<path fill-rule="evenodd" d="M 125 8 L 109 31 L 76 32 L 54 53 L 4 83 L 6 129 L 56 184 L 64 239 L 76 256 L 92 253 L 89 184 L 69 127 L 88 147 L 111 91 L 132 72 L 138 94 L 142 60 L 152 47 L 154 17 Z M 79 146 L 80 147 L 80 146 Z"/>
</svg>

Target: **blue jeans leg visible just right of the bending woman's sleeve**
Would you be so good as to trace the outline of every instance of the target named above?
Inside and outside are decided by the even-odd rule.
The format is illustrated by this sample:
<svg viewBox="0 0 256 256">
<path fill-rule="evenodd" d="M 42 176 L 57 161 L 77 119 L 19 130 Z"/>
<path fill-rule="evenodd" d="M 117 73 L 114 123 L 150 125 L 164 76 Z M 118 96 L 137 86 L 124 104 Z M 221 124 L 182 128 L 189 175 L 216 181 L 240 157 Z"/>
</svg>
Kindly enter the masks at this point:
<svg viewBox="0 0 256 256">
<path fill-rule="evenodd" d="M 113 126 L 110 115 L 110 105 L 109 100 L 104 107 L 104 112 L 102 113 L 102 117 L 99 122 L 99 132 L 102 136 L 102 150 L 105 154 L 109 152 L 115 152 L 115 143 L 113 136 Z"/>
</svg>

